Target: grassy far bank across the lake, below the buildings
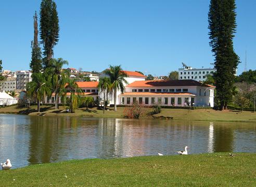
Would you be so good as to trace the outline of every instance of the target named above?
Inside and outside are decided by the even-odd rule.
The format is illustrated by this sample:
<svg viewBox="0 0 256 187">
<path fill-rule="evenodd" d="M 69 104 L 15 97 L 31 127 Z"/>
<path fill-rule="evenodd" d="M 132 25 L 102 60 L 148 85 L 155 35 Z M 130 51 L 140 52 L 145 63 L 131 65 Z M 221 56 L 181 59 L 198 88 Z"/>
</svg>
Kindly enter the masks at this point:
<svg viewBox="0 0 256 187">
<path fill-rule="evenodd" d="M 98 110 L 97 108 L 85 108 L 76 109 L 75 113 L 67 113 L 65 106 L 60 106 L 59 110 L 55 110 L 54 106 L 41 106 L 42 112 L 36 112 L 36 106 L 31 106 L 31 108 L 24 108 L 19 106 L 10 106 L 5 108 L 0 108 L 0 113 L 18 113 L 18 114 L 29 114 L 32 116 L 84 116 L 84 117 L 95 117 L 95 118 L 123 118 L 124 113 L 123 107 L 118 107 L 118 111 L 113 111 L 113 108 L 108 107 L 108 111 Z M 152 108 L 147 109 L 148 112 Z M 256 113 L 250 111 L 217 111 L 213 109 L 161 109 L 161 113 L 156 115 L 149 115 L 145 118 L 152 117 L 172 117 L 174 120 L 200 120 L 200 121 L 227 121 L 227 122 L 256 122 Z"/>
</svg>

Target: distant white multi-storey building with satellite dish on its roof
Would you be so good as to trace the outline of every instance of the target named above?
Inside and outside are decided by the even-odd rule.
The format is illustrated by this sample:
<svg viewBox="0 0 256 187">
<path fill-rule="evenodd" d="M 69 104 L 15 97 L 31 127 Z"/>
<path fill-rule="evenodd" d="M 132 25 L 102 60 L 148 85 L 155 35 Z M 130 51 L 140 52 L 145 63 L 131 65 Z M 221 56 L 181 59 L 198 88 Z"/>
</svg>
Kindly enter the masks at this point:
<svg viewBox="0 0 256 187">
<path fill-rule="evenodd" d="M 178 79 L 179 80 L 196 80 L 205 81 L 207 75 L 213 75 L 216 71 L 215 68 L 193 68 L 182 63 L 183 68 L 178 69 Z"/>
</svg>

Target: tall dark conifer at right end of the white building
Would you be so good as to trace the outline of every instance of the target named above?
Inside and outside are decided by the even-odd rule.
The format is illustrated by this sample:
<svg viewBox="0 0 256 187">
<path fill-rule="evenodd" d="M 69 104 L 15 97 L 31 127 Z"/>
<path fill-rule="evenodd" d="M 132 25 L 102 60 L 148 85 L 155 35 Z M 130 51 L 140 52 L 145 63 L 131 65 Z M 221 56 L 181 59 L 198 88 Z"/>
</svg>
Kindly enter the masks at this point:
<svg viewBox="0 0 256 187">
<path fill-rule="evenodd" d="M 216 97 L 220 109 L 226 109 L 232 100 L 232 90 L 239 57 L 234 52 L 233 38 L 236 32 L 235 0 L 211 0 L 208 13 L 209 38 L 214 53 L 216 73 Z"/>
</svg>

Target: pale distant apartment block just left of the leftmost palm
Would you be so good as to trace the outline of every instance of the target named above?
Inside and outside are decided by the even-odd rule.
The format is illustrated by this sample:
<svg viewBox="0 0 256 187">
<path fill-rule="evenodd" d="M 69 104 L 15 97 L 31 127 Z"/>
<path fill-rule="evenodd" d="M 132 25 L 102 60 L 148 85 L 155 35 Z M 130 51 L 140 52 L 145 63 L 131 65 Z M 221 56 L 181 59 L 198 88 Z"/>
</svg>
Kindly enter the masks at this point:
<svg viewBox="0 0 256 187">
<path fill-rule="evenodd" d="M 17 71 L 16 90 L 25 90 L 27 83 L 32 80 L 31 71 Z"/>
</svg>

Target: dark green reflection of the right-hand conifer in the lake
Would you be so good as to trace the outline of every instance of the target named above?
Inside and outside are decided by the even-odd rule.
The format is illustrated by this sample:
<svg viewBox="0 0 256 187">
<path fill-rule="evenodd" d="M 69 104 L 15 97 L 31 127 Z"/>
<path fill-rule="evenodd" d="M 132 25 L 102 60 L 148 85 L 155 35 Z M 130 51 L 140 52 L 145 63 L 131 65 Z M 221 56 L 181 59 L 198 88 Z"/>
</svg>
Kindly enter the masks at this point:
<svg viewBox="0 0 256 187">
<path fill-rule="evenodd" d="M 234 130 L 230 126 L 214 125 L 214 152 L 232 152 L 234 146 Z"/>
</svg>

